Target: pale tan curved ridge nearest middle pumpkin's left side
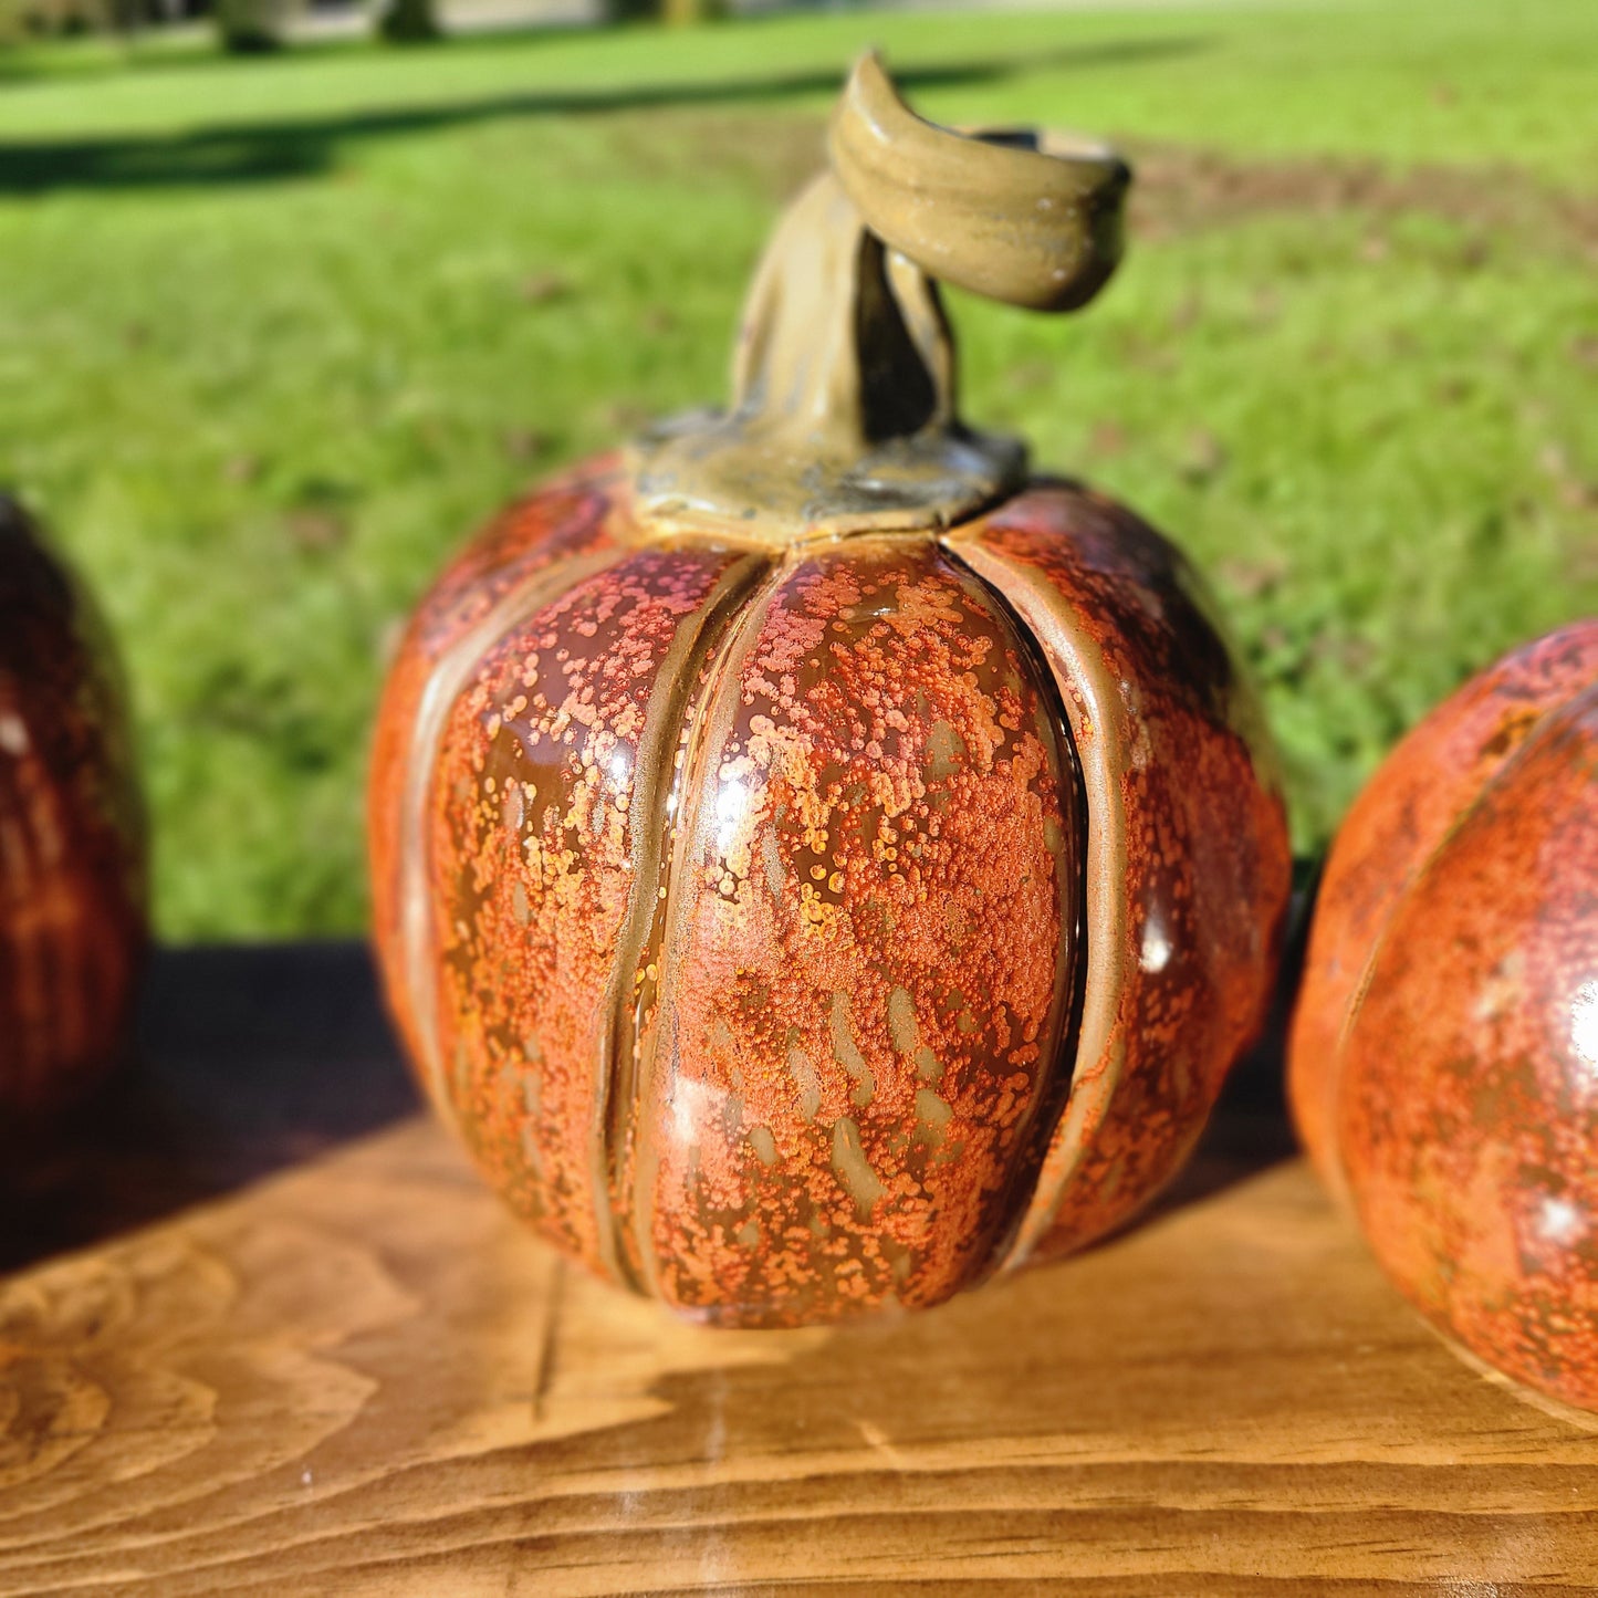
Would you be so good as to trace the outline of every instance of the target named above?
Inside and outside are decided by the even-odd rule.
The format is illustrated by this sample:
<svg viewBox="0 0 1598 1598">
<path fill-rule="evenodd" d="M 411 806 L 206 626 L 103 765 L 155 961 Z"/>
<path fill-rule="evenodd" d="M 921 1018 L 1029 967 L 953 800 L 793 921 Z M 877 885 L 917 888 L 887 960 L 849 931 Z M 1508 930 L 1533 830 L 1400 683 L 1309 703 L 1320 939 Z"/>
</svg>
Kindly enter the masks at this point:
<svg viewBox="0 0 1598 1598">
<path fill-rule="evenodd" d="M 439 967 L 435 959 L 428 836 L 433 773 L 438 769 L 444 727 L 478 663 L 507 633 L 553 604 L 562 593 L 625 559 L 626 555 L 626 548 L 599 550 L 553 569 L 542 569 L 518 583 L 481 622 L 438 657 L 417 700 L 400 820 L 400 957 L 422 1055 L 417 1064 L 428 1098 L 451 1125 L 455 1125 L 455 1114 L 438 1037 Z"/>
</svg>

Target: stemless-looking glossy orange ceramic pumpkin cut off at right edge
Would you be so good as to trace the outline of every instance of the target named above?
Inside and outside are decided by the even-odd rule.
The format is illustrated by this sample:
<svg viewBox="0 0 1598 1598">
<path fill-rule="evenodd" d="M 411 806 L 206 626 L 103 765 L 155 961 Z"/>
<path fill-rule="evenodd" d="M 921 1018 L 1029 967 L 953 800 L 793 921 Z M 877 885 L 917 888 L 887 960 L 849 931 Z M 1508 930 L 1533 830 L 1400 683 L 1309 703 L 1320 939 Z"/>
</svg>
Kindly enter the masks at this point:
<svg viewBox="0 0 1598 1598">
<path fill-rule="evenodd" d="M 1598 620 L 1481 673 L 1349 812 L 1290 1087 L 1409 1299 L 1598 1409 Z"/>
</svg>

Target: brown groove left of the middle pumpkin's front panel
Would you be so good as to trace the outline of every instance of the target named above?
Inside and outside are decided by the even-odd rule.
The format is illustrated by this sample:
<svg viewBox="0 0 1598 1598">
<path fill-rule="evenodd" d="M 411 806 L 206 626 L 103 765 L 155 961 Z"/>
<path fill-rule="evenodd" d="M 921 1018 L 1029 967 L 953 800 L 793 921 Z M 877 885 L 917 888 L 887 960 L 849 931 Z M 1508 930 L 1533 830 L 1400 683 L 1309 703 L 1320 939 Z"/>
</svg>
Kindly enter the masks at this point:
<svg viewBox="0 0 1598 1598">
<path fill-rule="evenodd" d="M 678 767 L 673 754 L 681 748 L 684 732 L 697 719 L 695 698 L 710 682 L 711 666 L 730 631 L 737 630 L 738 610 L 765 578 L 772 562 L 762 555 L 748 555 L 733 562 L 705 596 L 700 607 L 682 620 L 671 649 L 655 676 L 644 732 L 638 746 L 633 777 L 633 892 L 626 920 L 617 940 L 602 1012 L 607 1026 L 601 1032 L 601 1056 L 594 1095 L 596 1104 L 596 1230 L 609 1232 L 615 1251 L 615 1267 L 623 1282 L 642 1291 L 639 1262 L 630 1246 L 626 1211 L 628 1155 L 634 1141 L 639 1087 L 639 1013 L 644 1005 L 649 952 L 655 951 L 658 981 L 660 940 L 665 932 L 666 885 L 665 839 L 671 829 L 671 799 L 678 813 L 684 809 L 682 775 L 687 761 Z"/>
</svg>

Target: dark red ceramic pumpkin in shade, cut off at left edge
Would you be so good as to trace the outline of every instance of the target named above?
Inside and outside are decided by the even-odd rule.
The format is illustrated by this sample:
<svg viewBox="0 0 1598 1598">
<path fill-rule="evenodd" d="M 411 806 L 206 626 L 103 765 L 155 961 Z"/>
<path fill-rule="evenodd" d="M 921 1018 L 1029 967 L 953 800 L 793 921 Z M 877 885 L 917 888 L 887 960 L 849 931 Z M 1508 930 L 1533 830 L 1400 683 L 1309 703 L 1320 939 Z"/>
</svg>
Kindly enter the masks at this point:
<svg viewBox="0 0 1598 1598">
<path fill-rule="evenodd" d="M 117 1058 L 144 951 L 128 737 L 88 601 L 0 497 L 0 1127 Z"/>
</svg>

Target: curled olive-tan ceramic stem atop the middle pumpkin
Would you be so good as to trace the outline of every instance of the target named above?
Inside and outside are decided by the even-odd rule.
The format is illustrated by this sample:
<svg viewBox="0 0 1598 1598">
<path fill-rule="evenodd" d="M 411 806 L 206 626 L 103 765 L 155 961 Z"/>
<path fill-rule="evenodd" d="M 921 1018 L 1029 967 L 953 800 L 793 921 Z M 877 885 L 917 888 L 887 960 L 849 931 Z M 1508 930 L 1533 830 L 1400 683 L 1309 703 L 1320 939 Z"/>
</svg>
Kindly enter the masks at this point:
<svg viewBox="0 0 1598 1598">
<path fill-rule="evenodd" d="M 833 169 L 794 201 L 745 305 L 733 404 L 633 446 L 646 518 L 762 543 L 948 527 L 1026 476 L 967 428 L 935 280 L 1074 310 L 1120 259 L 1130 169 L 1101 145 L 960 134 L 916 117 L 876 56 L 833 117 Z"/>
</svg>

